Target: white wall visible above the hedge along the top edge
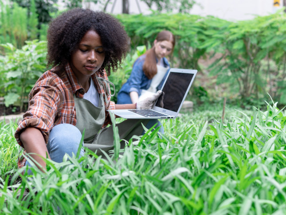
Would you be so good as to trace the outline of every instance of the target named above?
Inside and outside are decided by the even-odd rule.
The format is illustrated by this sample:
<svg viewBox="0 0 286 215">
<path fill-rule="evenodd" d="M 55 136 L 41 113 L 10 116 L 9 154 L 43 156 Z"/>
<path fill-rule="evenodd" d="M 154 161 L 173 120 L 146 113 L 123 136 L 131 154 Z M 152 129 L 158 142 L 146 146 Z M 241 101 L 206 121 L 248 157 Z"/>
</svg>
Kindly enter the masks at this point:
<svg viewBox="0 0 286 215">
<path fill-rule="evenodd" d="M 273 7 L 273 1 L 274 0 L 197 0 L 196 2 L 199 3 L 200 6 L 195 5 L 190 13 L 201 16 L 212 15 L 230 21 L 247 20 L 254 18 L 255 15 L 265 16 L 275 12 L 278 8 Z M 143 14 L 151 13 L 145 3 L 140 0 L 137 0 L 137 2 Z M 280 0 L 281 5 L 282 2 L 283 0 Z M 107 12 L 111 13 L 112 7 L 113 14 L 120 14 L 122 12 L 122 0 L 111 0 L 111 4 L 107 7 Z M 102 6 L 100 5 L 90 4 L 90 8 L 93 10 L 102 10 Z M 279 8 L 281 8 L 281 6 Z M 129 13 L 139 13 L 136 0 L 129 0 Z"/>
</svg>

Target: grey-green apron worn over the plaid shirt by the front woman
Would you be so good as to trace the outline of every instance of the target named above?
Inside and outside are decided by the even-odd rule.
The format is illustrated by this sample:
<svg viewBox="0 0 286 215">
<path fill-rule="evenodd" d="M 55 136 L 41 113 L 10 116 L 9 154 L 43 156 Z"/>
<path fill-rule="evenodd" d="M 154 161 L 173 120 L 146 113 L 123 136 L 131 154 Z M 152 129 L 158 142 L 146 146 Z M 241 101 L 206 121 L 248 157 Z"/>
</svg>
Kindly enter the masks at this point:
<svg viewBox="0 0 286 215">
<path fill-rule="evenodd" d="M 105 107 L 103 101 L 103 94 L 100 94 L 98 107 L 84 98 L 77 98 L 74 95 L 75 108 L 77 115 L 76 127 L 83 133 L 85 129 L 84 146 L 92 151 L 97 150 L 97 155 L 103 155 L 102 151 L 108 152 L 113 149 L 113 129 L 112 126 L 102 128 L 105 121 Z M 120 140 L 129 139 L 133 135 L 141 135 L 143 127 L 147 125 L 149 120 L 125 120 L 117 124 Z M 125 147 L 125 142 L 120 142 L 120 148 Z"/>
</svg>

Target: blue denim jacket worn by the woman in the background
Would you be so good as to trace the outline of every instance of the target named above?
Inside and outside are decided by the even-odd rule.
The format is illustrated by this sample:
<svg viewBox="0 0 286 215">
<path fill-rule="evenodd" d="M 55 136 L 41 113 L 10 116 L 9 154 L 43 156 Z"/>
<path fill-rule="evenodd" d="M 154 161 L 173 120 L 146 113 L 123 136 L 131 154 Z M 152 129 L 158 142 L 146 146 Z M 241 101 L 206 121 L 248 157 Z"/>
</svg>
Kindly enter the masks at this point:
<svg viewBox="0 0 286 215">
<path fill-rule="evenodd" d="M 123 84 L 123 86 L 118 92 L 118 95 L 117 95 L 118 104 L 132 103 L 131 98 L 129 96 L 129 93 L 132 91 L 137 92 L 138 95 L 140 96 L 142 89 L 149 89 L 152 79 L 148 79 L 143 71 L 143 64 L 145 62 L 145 59 L 146 59 L 146 55 L 142 55 L 134 62 L 130 77 L 128 78 L 127 82 Z M 157 90 L 161 89 L 170 71 L 170 65 L 169 65 L 168 60 L 166 58 L 163 58 L 163 62 L 164 62 L 164 67 L 169 67 L 169 70 L 166 72 L 163 80 L 158 85 Z"/>
</svg>

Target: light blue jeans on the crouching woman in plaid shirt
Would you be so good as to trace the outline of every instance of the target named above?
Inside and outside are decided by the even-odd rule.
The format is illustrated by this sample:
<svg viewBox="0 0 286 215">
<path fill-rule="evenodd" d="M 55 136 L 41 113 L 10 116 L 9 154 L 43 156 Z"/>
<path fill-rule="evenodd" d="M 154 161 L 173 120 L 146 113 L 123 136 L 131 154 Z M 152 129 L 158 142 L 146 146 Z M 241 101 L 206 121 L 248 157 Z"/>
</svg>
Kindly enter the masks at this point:
<svg viewBox="0 0 286 215">
<path fill-rule="evenodd" d="M 161 127 L 159 131 L 163 134 L 164 128 L 158 120 L 149 120 L 146 125 L 146 128 L 150 129 L 156 123 L 156 127 Z M 117 124 L 120 126 L 120 124 Z M 143 131 L 142 134 L 145 132 Z M 64 154 L 68 154 L 69 156 L 73 156 L 73 154 L 77 154 L 78 148 L 81 142 L 82 133 L 80 130 L 73 125 L 70 124 L 59 124 L 52 128 L 49 134 L 47 149 L 50 155 L 51 160 L 57 163 L 62 162 L 62 158 Z M 84 148 L 81 149 L 80 157 L 84 155 Z M 30 163 L 26 162 L 26 165 L 30 165 Z M 29 170 L 29 175 L 32 172 Z"/>
</svg>

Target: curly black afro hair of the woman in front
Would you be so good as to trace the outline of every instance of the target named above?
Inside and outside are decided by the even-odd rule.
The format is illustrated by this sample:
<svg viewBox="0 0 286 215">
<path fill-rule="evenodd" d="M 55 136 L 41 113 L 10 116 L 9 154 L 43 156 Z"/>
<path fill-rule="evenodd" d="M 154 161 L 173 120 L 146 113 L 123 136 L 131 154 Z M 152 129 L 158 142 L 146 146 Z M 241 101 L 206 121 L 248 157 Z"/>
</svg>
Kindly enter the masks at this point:
<svg viewBox="0 0 286 215">
<path fill-rule="evenodd" d="M 110 14 L 82 8 L 66 11 L 49 24 L 48 65 L 62 69 L 89 30 L 99 34 L 105 47 L 105 59 L 99 71 L 105 69 L 110 75 L 111 69 L 115 72 L 120 68 L 130 44 L 124 27 Z"/>
</svg>

